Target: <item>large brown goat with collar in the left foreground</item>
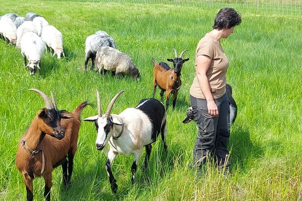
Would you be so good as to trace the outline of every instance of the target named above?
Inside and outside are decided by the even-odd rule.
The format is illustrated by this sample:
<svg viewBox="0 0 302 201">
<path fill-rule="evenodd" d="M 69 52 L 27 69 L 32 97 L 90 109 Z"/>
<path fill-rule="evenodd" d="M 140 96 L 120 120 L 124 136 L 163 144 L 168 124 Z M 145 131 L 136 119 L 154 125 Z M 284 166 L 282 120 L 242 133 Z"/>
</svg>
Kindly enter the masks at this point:
<svg viewBox="0 0 302 201">
<path fill-rule="evenodd" d="M 39 93 L 47 107 L 38 112 L 21 137 L 16 154 L 16 166 L 23 175 L 27 200 L 33 200 L 32 180 L 44 177 L 44 197 L 50 201 L 52 171 L 55 167 L 62 165 L 63 184 L 65 187 L 70 185 L 81 124 L 80 114 L 89 103 L 82 102 L 72 113 L 66 110 L 59 111 L 52 93 L 50 101 L 43 92 L 30 90 Z"/>
</svg>

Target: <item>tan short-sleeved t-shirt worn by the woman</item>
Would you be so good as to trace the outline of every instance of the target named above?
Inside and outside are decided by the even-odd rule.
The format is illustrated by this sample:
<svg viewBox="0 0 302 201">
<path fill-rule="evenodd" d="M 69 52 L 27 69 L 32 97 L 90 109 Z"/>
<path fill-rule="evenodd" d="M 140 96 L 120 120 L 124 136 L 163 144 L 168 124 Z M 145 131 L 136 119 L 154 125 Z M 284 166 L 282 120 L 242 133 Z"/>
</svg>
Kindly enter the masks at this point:
<svg viewBox="0 0 302 201">
<path fill-rule="evenodd" d="M 200 55 L 206 55 L 211 58 L 211 63 L 206 72 L 206 77 L 211 88 L 211 94 L 214 99 L 222 97 L 226 92 L 226 78 L 225 74 L 228 68 L 228 59 L 223 52 L 220 43 L 213 37 L 206 33 L 199 41 L 196 48 L 196 62 L 195 69 L 197 67 L 197 57 Z M 199 99 L 205 99 L 202 94 L 201 88 L 198 84 L 198 79 L 195 74 L 193 84 L 190 89 L 190 94 Z"/>
</svg>

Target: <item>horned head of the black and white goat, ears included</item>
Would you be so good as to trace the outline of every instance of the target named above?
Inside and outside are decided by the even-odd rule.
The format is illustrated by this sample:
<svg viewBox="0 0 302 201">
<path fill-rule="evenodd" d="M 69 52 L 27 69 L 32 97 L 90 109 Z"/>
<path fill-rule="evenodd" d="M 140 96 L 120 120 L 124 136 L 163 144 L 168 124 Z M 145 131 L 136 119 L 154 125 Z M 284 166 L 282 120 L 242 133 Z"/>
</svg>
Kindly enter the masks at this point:
<svg viewBox="0 0 302 201">
<path fill-rule="evenodd" d="M 106 143 L 109 141 L 110 137 L 113 136 L 114 126 L 122 125 L 122 122 L 118 115 L 111 114 L 111 110 L 114 102 L 121 95 L 123 91 L 120 91 L 115 95 L 115 97 L 110 101 L 107 111 L 105 114 L 101 113 L 101 101 L 99 91 L 97 90 L 97 101 L 98 101 L 98 115 L 90 116 L 88 118 L 82 119 L 84 121 L 94 121 L 97 130 L 97 140 L 96 148 L 102 150 Z"/>
</svg>

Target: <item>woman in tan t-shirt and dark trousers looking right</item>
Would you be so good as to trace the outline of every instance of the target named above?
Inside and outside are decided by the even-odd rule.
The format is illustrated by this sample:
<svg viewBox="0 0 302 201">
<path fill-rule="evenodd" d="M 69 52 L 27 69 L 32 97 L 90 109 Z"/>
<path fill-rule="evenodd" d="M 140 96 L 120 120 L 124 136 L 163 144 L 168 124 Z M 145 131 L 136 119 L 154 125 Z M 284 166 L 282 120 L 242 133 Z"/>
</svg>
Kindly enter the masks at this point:
<svg viewBox="0 0 302 201">
<path fill-rule="evenodd" d="M 190 89 L 190 101 L 199 129 L 193 165 L 199 167 L 212 158 L 219 168 L 229 166 L 230 110 L 225 88 L 229 63 L 220 39 L 227 38 L 240 23 L 241 16 L 233 8 L 220 9 L 213 30 L 201 38 L 196 49 L 196 75 Z"/>
</svg>

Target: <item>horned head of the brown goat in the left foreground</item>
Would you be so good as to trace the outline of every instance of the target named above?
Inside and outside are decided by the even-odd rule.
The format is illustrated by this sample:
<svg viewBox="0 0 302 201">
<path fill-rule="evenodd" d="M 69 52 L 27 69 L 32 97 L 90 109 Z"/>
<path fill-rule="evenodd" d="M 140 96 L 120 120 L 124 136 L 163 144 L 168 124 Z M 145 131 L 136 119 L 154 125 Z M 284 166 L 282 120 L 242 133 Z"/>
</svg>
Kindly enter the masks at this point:
<svg viewBox="0 0 302 201">
<path fill-rule="evenodd" d="M 59 140 L 64 138 L 65 130 L 62 127 L 60 121 L 61 118 L 71 118 L 71 117 L 64 115 L 64 111 L 58 110 L 55 97 L 53 96 L 52 92 L 51 92 L 52 101 L 50 101 L 50 99 L 40 90 L 29 89 L 29 91 L 38 93 L 46 104 L 46 107 L 38 112 L 39 129 L 43 133 L 55 137 Z"/>
</svg>

